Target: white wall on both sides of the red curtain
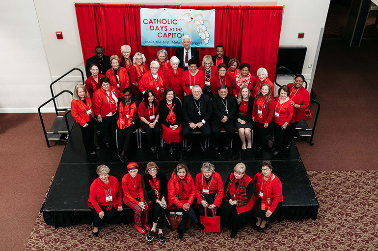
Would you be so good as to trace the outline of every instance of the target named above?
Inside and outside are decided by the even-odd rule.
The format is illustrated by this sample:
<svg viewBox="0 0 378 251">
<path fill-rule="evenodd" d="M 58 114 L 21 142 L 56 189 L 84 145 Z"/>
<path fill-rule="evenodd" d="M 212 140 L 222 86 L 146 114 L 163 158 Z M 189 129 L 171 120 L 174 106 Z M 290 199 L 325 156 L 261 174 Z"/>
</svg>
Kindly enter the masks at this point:
<svg viewBox="0 0 378 251">
<path fill-rule="evenodd" d="M 82 0 L 81 2 L 93 2 L 93 0 Z M 125 1 L 121 0 L 103 0 L 101 2 L 125 3 Z M 193 0 L 190 3 L 165 0 L 158 4 L 202 5 L 202 2 L 203 0 Z M 330 0 L 241 0 L 233 2 L 232 5 L 285 5 L 280 46 L 307 46 L 307 55 L 302 74 L 310 82 L 312 68 L 308 68 L 308 64 L 314 64 L 319 34 L 321 28 L 324 27 L 329 2 Z M 156 2 L 131 0 L 127 3 L 154 4 Z M 9 55 L 16 55 L 13 58 L 21 58 L 21 62 L 32 61 L 33 63 L 30 67 L 26 67 L 27 72 L 24 76 L 18 76 L 19 70 L 15 68 L 9 68 L 9 71 L 3 72 L 5 73 L 4 75 L 0 75 L 0 84 L 5 86 L 3 90 L 12 90 L 12 87 L 17 86 L 17 90 L 21 90 L 22 97 L 25 95 L 23 99 L 27 100 L 26 103 L 19 102 L 19 100 L 13 100 L 6 97 L 5 93 L 2 93 L 0 112 L 14 112 L 15 109 L 20 108 L 25 108 L 20 110 L 23 112 L 36 111 L 36 108 L 43 101 L 50 98 L 48 85 L 51 79 L 55 80 L 69 69 L 75 67 L 84 71 L 74 1 L 34 0 L 35 10 L 30 1 L 25 3 L 23 1 L 22 4 L 7 2 L 3 5 L 5 5 L 5 10 L 2 9 L 2 11 L 5 12 L 6 17 L 0 17 L 0 21 L 3 21 L 0 23 L 0 45 L 3 45 L 2 48 L 6 46 L 9 49 L 7 50 Z M 230 2 L 226 0 L 208 0 L 206 5 L 230 5 Z M 35 15 L 35 11 L 37 15 Z M 15 20 L 12 24 L 13 27 L 9 27 L 9 20 Z M 7 34 L 6 39 L 3 39 L 4 36 L 2 36 L 3 29 L 7 31 L 5 33 Z M 56 39 L 56 31 L 63 32 L 63 40 Z M 25 39 L 24 32 L 27 34 Z M 305 33 L 303 39 L 297 38 L 298 32 Z M 7 44 L 10 44 L 10 46 Z M 20 49 L 20 46 L 26 45 L 25 49 Z M 38 68 L 38 71 L 36 71 L 36 68 Z M 15 76 L 18 76 L 20 81 L 15 81 Z M 71 73 L 64 82 L 56 84 L 56 92 L 64 89 L 72 90 L 77 81 L 80 81 L 79 76 L 79 72 Z M 274 76 L 270 76 L 270 79 L 273 80 Z M 286 84 L 288 81 L 290 80 L 283 78 L 278 82 Z M 33 95 L 29 98 L 30 93 L 33 93 Z M 58 101 L 60 106 L 69 106 L 69 102 L 69 97 Z"/>
</svg>

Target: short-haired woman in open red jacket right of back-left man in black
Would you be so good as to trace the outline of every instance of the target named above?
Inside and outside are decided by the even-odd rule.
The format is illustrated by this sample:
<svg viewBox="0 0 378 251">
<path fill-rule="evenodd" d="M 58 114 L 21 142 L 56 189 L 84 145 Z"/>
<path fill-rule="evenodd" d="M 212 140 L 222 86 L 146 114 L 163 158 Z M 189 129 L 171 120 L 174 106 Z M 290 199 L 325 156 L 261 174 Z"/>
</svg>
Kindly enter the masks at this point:
<svg viewBox="0 0 378 251">
<path fill-rule="evenodd" d="M 129 73 L 126 68 L 119 66 L 119 57 L 112 55 L 110 57 L 111 68 L 107 70 L 106 76 L 110 79 L 110 85 L 117 88 L 120 92 L 129 88 Z"/>
</svg>

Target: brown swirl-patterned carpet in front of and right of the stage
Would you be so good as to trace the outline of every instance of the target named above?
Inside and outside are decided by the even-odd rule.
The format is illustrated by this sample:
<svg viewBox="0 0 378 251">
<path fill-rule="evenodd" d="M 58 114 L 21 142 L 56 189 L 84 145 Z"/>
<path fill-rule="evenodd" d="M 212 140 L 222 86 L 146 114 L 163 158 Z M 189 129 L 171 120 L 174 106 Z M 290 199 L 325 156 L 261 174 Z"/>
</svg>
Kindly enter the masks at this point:
<svg viewBox="0 0 378 251">
<path fill-rule="evenodd" d="M 319 201 L 318 219 L 283 221 L 267 225 L 263 233 L 253 230 L 253 222 L 230 238 L 230 229 L 202 233 L 197 226 L 179 239 L 177 229 L 165 229 L 165 246 L 132 225 L 104 225 L 99 237 L 92 227 L 47 226 L 39 213 L 27 241 L 27 251 L 181 251 L 181 250 L 277 250 L 277 251 L 376 251 L 378 250 L 378 171 L 309 171 Z"/>
</svg>

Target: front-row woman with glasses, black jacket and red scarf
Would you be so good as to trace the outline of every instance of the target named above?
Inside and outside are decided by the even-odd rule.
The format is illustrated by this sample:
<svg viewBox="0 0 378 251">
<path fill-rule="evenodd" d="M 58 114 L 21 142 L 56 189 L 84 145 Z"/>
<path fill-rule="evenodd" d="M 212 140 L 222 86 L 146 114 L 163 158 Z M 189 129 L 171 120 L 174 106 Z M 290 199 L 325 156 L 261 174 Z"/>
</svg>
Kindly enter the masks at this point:
<svg viewBox="0 0 378 251">
<path fill-rule="evenodd" d="M 148 204 L 150 210 L 153 211 L 153 224 L 151 232 L 147 235 L 147 241 L 152 241 L 158 227 L 159 243 L 165 245 L 165 239 L 163 236 L 163 223 L 165 219 L 164 211 L 167 207 L 168 197 L 168 180 L 165 174 L 159 171 L 159 167 L 155 162 L 148 162 L 146 166 L 146 175 L 143 177 L 144 187 L 147 191 Z"/>
</svg>

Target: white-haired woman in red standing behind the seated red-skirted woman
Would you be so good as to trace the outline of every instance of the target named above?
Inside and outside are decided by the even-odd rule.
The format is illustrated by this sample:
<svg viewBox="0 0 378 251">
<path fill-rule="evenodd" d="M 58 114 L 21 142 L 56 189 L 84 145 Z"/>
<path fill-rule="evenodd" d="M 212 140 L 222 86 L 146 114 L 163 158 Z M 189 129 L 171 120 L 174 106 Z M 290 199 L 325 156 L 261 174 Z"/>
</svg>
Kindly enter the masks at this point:
<svg viewBox="0 0 378 251">
<path fill-rule="evenodd" d="M 181 100 L 181 102 L 183 102 L 184 91 L 183 91 L 183 85 L 181 84 L 181 81 L 183 80 L 184 69 L 179 68 L 179 63 L 180 63 L 180 60 L 176 56 L 171 57 L 171 60 L 170 60 L 171 68 L 164 71 L 164 79 L 165 79 L 165 87 L 173 88 L 177 97 Z"/>
</svg>

